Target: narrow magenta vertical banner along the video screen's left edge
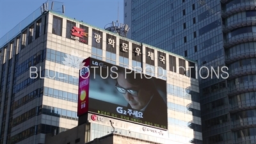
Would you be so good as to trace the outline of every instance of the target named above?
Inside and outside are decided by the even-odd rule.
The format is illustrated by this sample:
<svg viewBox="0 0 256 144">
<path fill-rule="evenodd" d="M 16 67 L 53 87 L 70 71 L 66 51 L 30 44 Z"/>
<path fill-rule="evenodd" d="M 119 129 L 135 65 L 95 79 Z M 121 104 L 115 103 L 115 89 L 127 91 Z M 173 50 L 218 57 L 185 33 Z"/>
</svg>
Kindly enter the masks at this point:
<svg viewBox="0 0 256 144">
<path fill-rule="evenodd" d="M 83 67 L 79 70 L 79 88 L 77 116 L 88 112 L 89 104 L 89 81 L 90 81 L 90 58 L 83 60 Z"/>
</svg>

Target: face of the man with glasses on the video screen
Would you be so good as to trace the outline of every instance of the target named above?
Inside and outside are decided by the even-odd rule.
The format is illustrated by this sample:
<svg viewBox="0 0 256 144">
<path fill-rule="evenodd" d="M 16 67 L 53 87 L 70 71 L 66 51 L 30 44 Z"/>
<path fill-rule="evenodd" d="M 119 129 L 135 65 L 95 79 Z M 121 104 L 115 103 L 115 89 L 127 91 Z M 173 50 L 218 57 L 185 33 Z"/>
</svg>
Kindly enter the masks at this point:
<svg viewBox="0 0 256 144">
<path fill-rule="evenodd" d="M 124 99 L 133 109 L 143 109 L 147 105 L 148 100 L 150 100 L 151 93 L 141 89 L 138 85 L 129 83 L 129 81 L 125 79 L 124 74 L 118 75 L 116 89 L 124 95 Z"/>
</svg>

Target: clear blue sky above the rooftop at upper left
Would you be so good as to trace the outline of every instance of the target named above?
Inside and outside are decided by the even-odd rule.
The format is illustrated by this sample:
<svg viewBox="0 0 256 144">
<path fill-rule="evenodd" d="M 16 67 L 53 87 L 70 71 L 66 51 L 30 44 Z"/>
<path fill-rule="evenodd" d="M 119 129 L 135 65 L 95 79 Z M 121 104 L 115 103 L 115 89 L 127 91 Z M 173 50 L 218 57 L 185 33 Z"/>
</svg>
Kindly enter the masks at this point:
<svg viewBox="0 0 256 144">
<path fill-rule="evenodd" d="M 0 0 L 0 38 L 46 1 Z M 104 29 L 106 24 L 118 20 L 118 11 L 119 22 L 124 22 L 124 0 L 57 0 L 56 2 L 64 4 L 66 17 L 83 20 L 98 28 Z"/>
</svg>

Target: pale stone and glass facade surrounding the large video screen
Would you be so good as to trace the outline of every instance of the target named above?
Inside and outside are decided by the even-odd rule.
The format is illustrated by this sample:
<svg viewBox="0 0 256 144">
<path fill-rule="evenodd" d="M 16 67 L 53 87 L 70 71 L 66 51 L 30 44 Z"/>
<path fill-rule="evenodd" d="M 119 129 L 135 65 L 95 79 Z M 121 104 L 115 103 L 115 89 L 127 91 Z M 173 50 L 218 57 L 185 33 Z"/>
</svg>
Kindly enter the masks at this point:
<svg viewBox="0 0 256 144">
<path fill-rule="evenodd" d="M 116 131 L 161 143 L 202 142 L 198 79 L 195 69 L 189 71 L 189 66 L 196 67 L 195 61 L 51 11 L 42 12 L 20 33 L 3 41 L 1 143 L 44 143 L 45 134 L 58 135 L 76 127 L 79 69 L 74 61 L 90 56 L 131 69 L 151 67 L 145 74 L 167 83 L 168 129 L 164 135 L 122 120 L 116 120 Z M 127 52 L 120 52 L 123 43 Z M 140 58 L 134 56 L 133 45 L 140 46 Z M 185 71 L 191 74 L 184 75 Z M 89 122 L 86 141 L 112 129 L 107 120 L 106 124 Z"/>
</svg>

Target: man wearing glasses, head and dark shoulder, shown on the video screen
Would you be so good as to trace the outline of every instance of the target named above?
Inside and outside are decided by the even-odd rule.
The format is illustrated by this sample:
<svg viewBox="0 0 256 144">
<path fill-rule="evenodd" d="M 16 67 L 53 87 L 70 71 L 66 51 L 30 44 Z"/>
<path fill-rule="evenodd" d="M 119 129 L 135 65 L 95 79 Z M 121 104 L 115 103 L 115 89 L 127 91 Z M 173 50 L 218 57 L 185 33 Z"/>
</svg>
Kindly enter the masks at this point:
<svg viewBox="0 0 256 144">
<path fill-rule="evenodd" d="M 143 118 L 157 122 L 167 107 L 157 92 L 153 78 L 145 77 L 144 74 L 134 75 L 134 72 L 127 74 L 123 68 L 116 69 L 115 72 L 118 74 L 115 87 L 128 102 L 127 108 L 141 111 Z"/>
</svg>

